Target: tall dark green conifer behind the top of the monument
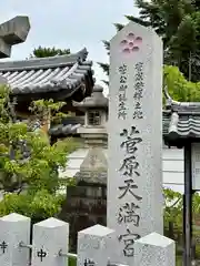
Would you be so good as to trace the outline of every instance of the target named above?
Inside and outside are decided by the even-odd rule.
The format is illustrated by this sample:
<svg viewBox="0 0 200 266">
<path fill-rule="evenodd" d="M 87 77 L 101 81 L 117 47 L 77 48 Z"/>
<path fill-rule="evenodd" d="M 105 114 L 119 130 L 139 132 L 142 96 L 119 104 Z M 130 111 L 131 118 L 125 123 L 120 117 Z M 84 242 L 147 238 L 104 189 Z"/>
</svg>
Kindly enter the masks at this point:
<svg viewBox="0 0 200 266">
<path fill-rule="evenodd" d="M 136 0 L 139 18 L 126 16 L 146 27 L 152 27 L 163 40 L 164 64 L 177 65 L 183 75 L 196 82 L 200 71 L 200 3 L 188 0 Z M 114 24 L 117 31 L 123 24 Z M 110 44 L 103 41 L 109 53 Z M 108 64 L 99 63 L 108 74 Z M 106 81 L 108 84 L 108 81 Z"/>
</svg>

